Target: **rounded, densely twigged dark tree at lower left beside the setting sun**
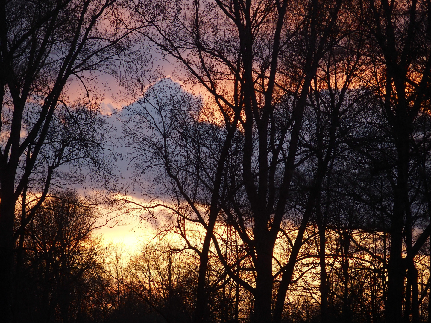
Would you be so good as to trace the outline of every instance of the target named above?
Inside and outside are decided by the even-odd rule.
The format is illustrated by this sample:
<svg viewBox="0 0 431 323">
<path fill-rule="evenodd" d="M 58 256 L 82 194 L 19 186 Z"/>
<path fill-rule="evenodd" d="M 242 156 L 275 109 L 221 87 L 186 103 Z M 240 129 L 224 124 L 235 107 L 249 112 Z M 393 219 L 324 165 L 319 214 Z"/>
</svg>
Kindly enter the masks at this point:
<svg viewBox="0 0 431 323">
<path fill-rule="evenodd" d="M 117 249 L 94 235 L 99 220 L 75 193 L 45 200 L 17 248 L 16 322 L 138 322 L 151 313 L 123 284 Z"/>
</svg>

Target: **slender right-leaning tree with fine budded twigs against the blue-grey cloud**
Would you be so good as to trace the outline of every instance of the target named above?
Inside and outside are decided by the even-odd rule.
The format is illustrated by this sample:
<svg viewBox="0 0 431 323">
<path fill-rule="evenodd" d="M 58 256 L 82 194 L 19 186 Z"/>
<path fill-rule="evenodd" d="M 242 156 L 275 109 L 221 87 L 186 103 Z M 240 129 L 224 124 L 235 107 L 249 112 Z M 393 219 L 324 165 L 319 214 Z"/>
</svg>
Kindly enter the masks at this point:
<svg viewBox="0 0 431 323">
<path fill-rule="evenodd" d="M 226 199 L 225 163 L 234 153 L 239 115 L 212 124 L 211 115 L 201 110 L 200 98 L 168 79 L 150 84 L 143 95 L 125 108 L 123 132 L 132 149 L 138 181 L 143 172 L 153 172 L 147 183 L 156 186 L 143 187 L 145 196 L 153 201 L 146 209 L 155 214 L 152 210 L 162 206 L 172 213 L 169 230 L 175 230 L 184 248 L 199 258 L 194 313 L 194 321 L 199 322 L 209 314 L 210 244 L 220 200 Z M 203 242 L 188 230 L 204 230 Z"/>
</svg>

